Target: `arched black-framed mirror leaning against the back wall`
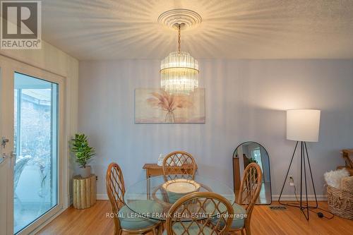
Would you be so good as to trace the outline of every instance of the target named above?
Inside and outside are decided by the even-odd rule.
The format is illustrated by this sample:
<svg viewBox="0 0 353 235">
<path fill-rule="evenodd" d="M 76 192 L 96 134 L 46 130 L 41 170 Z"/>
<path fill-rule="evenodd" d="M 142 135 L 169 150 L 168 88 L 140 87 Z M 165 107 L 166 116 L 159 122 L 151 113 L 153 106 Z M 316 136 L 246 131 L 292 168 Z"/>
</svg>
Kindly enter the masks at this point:
<svg viewBox="0 0 353 235">
<path fill-rule="evenodd" d="M 256 142 L 242 143 L 233 153 L 234 192 L 238 195 L 244 169 L 251 162 L 256 162 L 263 171 L 263 182 L 256 204 L 271 204 L 270 158 L 265 147 Z"/>
</svg>

